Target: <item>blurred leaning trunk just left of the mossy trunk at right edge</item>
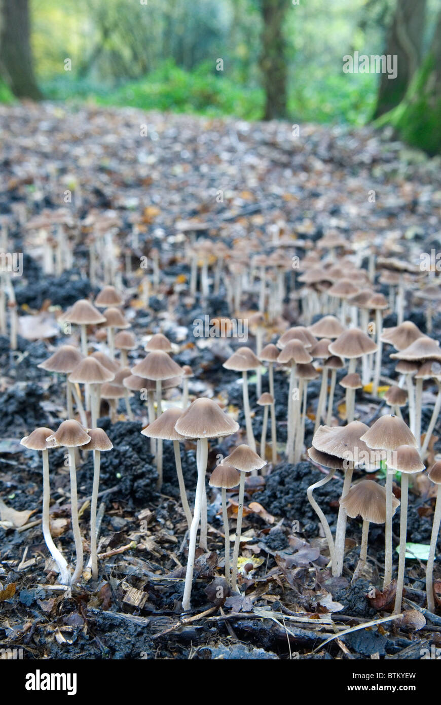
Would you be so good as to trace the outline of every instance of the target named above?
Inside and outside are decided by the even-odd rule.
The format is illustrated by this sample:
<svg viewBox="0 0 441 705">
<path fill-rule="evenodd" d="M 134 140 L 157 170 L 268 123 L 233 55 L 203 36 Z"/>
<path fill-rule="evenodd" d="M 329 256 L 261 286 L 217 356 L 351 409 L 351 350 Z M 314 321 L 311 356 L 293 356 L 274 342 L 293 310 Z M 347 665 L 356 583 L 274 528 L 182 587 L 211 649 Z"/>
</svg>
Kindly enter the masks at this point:
<svg viewBox="0 0 441 705">
<path fill-rule="evenodd" d="M 397 0 L 385 47 L 386 56 L 397 56 L 397 77 L 381 74 L 374 118 L 402 102 L 420 66 L 425 16 L 426 0 Z"/>
</svg>

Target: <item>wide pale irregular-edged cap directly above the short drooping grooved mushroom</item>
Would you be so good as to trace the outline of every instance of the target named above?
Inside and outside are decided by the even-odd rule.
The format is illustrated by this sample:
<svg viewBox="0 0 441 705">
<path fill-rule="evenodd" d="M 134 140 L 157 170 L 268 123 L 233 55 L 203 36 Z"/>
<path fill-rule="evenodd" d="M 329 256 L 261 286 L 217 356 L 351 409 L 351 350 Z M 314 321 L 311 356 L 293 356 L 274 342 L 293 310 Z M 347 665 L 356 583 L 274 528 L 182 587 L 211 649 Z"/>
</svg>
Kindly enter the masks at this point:
<svg viewBox="0 0 441 705">
<path fill-rule="evenodd" d="M 363 465 L 366 470 L 375 470 L 383 459 L 382 453 L 372 453 L 362 436 L 369 427 L 361 421 L 352 421 L 346 426 L 319 426 L 313 435 L 312 445 L 316 450 L 335 455 L 355 466 Z"/>
</svg>

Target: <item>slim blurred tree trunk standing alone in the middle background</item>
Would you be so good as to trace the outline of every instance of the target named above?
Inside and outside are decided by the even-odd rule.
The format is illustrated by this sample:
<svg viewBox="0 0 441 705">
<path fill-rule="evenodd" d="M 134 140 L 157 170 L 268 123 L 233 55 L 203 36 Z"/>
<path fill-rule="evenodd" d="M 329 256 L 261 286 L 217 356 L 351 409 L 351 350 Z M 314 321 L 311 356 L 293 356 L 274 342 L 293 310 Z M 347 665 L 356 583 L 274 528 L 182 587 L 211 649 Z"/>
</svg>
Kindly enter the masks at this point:
<svg viewBox="0 0 441 705">
<path fill-rule="evenodd" d="M 259 66 L 266 99 L 264 120 L 286 115 L 287 70 L 282 27 L 287 6 L 287 0 L 261 0 L 263 30 Z"/>
</svg>

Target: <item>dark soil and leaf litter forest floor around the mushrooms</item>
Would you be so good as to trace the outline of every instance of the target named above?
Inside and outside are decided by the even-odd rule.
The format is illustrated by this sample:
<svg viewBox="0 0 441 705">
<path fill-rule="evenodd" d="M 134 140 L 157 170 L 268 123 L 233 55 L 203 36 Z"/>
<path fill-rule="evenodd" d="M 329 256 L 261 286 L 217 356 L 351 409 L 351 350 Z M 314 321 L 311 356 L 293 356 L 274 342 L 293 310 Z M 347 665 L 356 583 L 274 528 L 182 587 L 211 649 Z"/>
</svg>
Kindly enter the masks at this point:
<svg viewBox="0 0 441 705">
<path fill-rule="evenodd" d="M 143 126 L 147 125 L 147 130 Z M 147 132 L 147 135 L 142 134 Z M 295 130 L 294 130 L 295 133 Z M 35 234 L 15 226 L 14 252 L 23 252 L 23 276 L 13 279 L 20 316 L 41 316 L 56 325 L 56 315 L 78 298 L 97 293 L 88 279 L 87 215 L 93 209 L 116 212 L 122 220 L 118 244 L 122 259 L 131 247 L 132 222 L 139 223 L 139 247 L 129 253 L 130 270 L 123 274 L 129 294 L 126 315 L 140 342 L 130 360 L 142 357 L 145 336 L 159 327 L 178 345 L 173 357 L 190 364 L 190 394 L 222 401 L 236 415 L 241 429 L 242 388 L 237 374 L 222 363 L 232 341 L 194 337 L 195 319 L 228 316 L 225 291 L 206 301 L 188 297 L 182 283 L 190 276 L 183 255 L 182 221 L 206 223 L 204 237 L 229 247 L 243 238 L 271 240 L 271 226 L 287 223 L 289 233 L 314 243 L 337 228 L 356 245 L 367 237 L 387 252 L 401 253 L 418 264 L 421 253 L 439 247 L 441 170 L 439 159 L 427 159 L 388 133 L 301 125 L 293 135 L 287 123 L 244 123 L 168 114 L 143 114 L 132 109 L 82 108 L 70 111 L 55 104 L 0 106 L 2 142 L 0 211 L 30 214 L 43 208 L 72 207 L 75 227 L 74 266 L 62 276 L 44 274 L 41 246 Z M 66 192 L 73 194 L 66 204 Z M 140 303 L 141 257 L 156 247 L 161 257 L 161 288 Z M 365 262 L 366 266 L 366 262 Z M 289 269 L 289 266 L 288 268 Z M 383 290 L 380 288 L 380 290 Z M 383 293 L 387 293 L 384 290 Z M 247 293 L 244 308 L 256 309 Z M 297 304 L 285 302 L 290 324 L 302 324 Z M 425 331 L 421 305 L 408 299 L 406 318 Z M 437 336 L 441 319 L 435 317 Z M 395 324 L 395 314 L 385 325 Z M 111 424 L 106 404 L 100 425 L 113 442 L 101 460 L 99 581 L 84 582 L 65 594 L 41 530 L 41 458 L 19 445 L 37 426 L 56 429 L 63 420 L 64 387 L 39 369 L 63 338 L 61 328 L 51 342 L 30 340 L 25 321 L 18 350 L 0 336 L 0 647 L 22 647 L 25 658 L 421 658 L 427 644 L 441 645 L 441 617 L 427 619 L 418 632 L 394 621 L 358 628 L 390 616 L 380 584 L 384 560 L 383 527 L 373 527 L 368 568 L 356 583 L 350 580 L 359 552 L 360 522 L 349 522 L 347 553 L 341 578 L 326 568 L 328 548 L 317 517 L 306 501 L 306 488 L 323 477 L 302 460 L 284 460 L 287 374 L 275 372 L 279 462 L 266 474 L 247 481 L 242 527 L 242 596 L 219 599 L 225 588 L 221 506 L 209 491 L 209 553 L 199 551 L 192 594 L 192 613 L 182 618 L 186 563 L 186 522 L 179 503 L 173 446 L 164 443 L 164 485 L 155 489 L 156 470 L 149 442 L 139 433 L 147 424 L 145 403 L 130 400 L 135 421 L 125 417 Z M 75 337 L 75 331 L 73 331 Z M 64 336 L 63 342 L 70 342 Z M 268 340 L 268 342 L 270 342 Z M 247 343 L 254 345 L 250 336 Z M 99 345 L 97 345 L 99 347 Z M 383 384 L 394 376 L 390 348 L 383 353 Z M 344 374 L 344 373 L 343 373 Z M 267 379 L 263 375 L 263 391 Z M 309 388 L 313 409 L 319 385 Z M 335 400 L 334 423 L 341 422 Z M 178 392 L 164 398 L 173 403 Z M 250 384 L 254 434 L 260 438 L 262 407 Z M 430 418 L 432 396 L 423 399 L 423 419 Z M 356 412 L 369 422 L 382 404 L 368 391 L 357 392 Z M 306 422 L 306 448 L 311 445 L 313 414 Z M 241 443 L 243 431 L 223 443 L 212 443 L 209 470 L 216 456 Z M 441 436 L 439 426 L 435 434 Z M 437 447 L 431 444 L 431 457 Z M 190 505 L 196 484 L 194 444 L 182 443 L 182 467 Z M 92 459 L 82 457 L 77 472 L 79 507 L 85 549 L 88 544 L 88 499 L 92 491 Z M 71 560 L 68 468 L 63 450 L 50 451 L 53 504 L 51 520 L 56 541 Z M 355 477 L 362 477 L 356 472 Z M 342 477 L 316 492 L 335 528 Z M 396 488 L 399 495 L 399 486 Z M 408 540 L 428 544 L 433 496 L 426 485 L 414 485 L 409 500 Z M 229 514 L 234 533 L 237 496 L 230 493 Z M 399 517 L 399 510 L 397 511 Z M 399 520 L 397 518 L 397 524 Z M 395 542 L 397 537 L 395 536 Z M 397 554 L 395 558 L 395 570 Z M 423 606 L 425 564 L 406 561 L 406 606 Z M 435 565 L 435 577 L 441 578 Z M 342 632 L 349 631 L 346 634 Z M 332 637 L 332 638 L 331 638 Z M 325 644 L 323 642 L 326 642 Z M 322 645 L 323 644 L 323 645 Z"/>
</svg>

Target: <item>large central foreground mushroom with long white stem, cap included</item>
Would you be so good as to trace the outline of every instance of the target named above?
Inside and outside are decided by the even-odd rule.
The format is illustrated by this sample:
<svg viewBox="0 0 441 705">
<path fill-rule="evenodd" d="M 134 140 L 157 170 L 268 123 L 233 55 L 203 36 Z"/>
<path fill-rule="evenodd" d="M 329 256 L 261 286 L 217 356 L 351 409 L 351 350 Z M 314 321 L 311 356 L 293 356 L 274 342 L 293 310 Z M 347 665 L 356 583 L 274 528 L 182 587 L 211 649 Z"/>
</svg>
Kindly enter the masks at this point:
<svg viewBox="0 0 441 705">
<path fill-rule="evenodd" d="M 211 399 L 200 398 L 195 399 L 188 409 L 182 413 L 182 416 L 175 424 L 175 430 L 181 436 L 197 439 L 197 487 L 194 497 L 192 524 L 188 537 L 188 561 L 182 599 L 182 608 L 187 611 L 190 609 L 194 551 L 196 549 L 197 529 L 201 520 L 202 498 L 205 491 L 205 473 L 209 450 L 207 439 L 230 436 L 239 430 L 239 424 L 224 414 L 216 402 Z"/>
</svg>

